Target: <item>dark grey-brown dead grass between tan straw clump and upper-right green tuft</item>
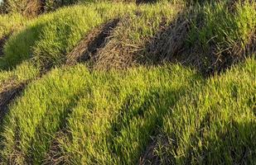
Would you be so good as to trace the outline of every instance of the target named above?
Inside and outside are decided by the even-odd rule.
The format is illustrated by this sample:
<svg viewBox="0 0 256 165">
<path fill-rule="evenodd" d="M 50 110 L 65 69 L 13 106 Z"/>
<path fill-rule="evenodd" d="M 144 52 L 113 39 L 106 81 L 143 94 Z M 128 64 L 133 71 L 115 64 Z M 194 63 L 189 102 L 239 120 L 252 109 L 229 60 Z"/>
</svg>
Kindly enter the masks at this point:
<svg viewBox="0 0 256 165">
<path fill-rule="evenodd" d="M 150 63 L 174 62 L 179 59 L 178 55 L 184 51 L 189 26 L 190 22 L 186 16 L 181 15 L 176 21 L 159 31 L 146 45 L 145 55 L 150 59 Z"/>
</svg>

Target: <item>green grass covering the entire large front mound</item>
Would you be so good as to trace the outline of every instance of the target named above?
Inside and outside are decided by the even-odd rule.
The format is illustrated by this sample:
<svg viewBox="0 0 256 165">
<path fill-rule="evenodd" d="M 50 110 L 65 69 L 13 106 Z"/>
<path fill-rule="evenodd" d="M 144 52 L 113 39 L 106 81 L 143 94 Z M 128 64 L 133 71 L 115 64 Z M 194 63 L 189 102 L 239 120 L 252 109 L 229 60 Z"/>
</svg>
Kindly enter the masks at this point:
<svg viewBox="0 0 256 165">
<path fill-rule="evenodd" d="M 156 149 L 173 163 L 253 164 L 255 66 L 210 79 L 181 65 L 54 69 L 10 107 L 2 160 L 43 163 L 57 152 L 65 163 L 134 164 L 162 130 L 170 144 Z"/>
</svg>

